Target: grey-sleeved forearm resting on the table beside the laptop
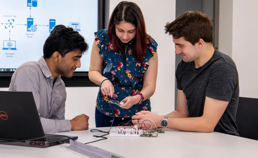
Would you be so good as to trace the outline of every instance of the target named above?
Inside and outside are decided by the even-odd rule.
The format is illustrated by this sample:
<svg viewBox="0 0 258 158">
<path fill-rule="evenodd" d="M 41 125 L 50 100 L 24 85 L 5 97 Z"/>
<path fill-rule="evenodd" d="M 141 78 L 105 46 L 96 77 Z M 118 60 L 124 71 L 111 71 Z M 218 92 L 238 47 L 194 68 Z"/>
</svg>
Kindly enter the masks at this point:
<svg viewBox="0 0 258 158">
<path fill-rule="evenodd" d="M 44 133 L 57 133 L 71 130 L 70 120 L 52 120 L 40 118 Z"/>
</svg>

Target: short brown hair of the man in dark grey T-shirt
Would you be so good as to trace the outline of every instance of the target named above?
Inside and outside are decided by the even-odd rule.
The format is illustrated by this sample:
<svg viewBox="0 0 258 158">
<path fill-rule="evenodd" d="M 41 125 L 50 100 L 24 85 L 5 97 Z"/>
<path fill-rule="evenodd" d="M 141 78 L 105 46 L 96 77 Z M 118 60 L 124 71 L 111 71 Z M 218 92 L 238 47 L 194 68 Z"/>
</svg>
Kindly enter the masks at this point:
<svg viewBox="0 0 258 158">
<path fill-rule="evenodd" d="M 165 33 L 173 38 L 184 37 L 191 44 L 196 44 L 200 38 L 204 42 L 213 41 L 213 24 L 208 15 L 200 11 L 187 11 L 177 17 L 173 22 L 167 23 Z"/>
</svg>

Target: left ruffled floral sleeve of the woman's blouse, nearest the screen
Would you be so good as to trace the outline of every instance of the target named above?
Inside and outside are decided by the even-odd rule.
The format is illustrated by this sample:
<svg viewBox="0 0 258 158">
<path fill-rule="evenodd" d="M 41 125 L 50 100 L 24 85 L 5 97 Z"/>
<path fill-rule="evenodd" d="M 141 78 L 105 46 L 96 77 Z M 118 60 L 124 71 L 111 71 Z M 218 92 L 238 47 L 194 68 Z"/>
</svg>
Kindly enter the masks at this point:
<svg viewBox="0 0 258 158">
<path fill-rule="evenodd" d="M 99 55 L 105 59 L 107 54 L 107 35 L 106 30 L 99 30 L 98 32 L 94 32 L 95 42 L 99 47 Z"/>
</svg>

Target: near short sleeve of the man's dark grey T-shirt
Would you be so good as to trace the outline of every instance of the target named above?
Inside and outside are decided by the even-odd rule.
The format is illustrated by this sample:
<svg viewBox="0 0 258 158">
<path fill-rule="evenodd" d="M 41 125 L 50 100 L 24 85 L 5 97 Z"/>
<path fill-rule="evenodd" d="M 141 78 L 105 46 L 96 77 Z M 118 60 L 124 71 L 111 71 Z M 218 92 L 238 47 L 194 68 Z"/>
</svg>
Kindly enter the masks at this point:
<svg viewBox="0 0 258 158">
<path fill-rule="evenodd" d="M 229 102 L 237 85 L 237 70 L 228 63 L 222 63 L 216 66 L 210 74 L 206 96 Z"/>
</svg>

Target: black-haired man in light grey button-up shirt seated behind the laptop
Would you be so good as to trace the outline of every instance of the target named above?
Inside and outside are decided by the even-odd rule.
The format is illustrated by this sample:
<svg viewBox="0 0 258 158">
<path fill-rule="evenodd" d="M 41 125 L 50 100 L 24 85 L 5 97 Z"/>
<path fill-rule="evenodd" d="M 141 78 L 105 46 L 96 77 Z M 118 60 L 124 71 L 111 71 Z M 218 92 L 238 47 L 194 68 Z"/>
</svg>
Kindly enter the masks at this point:
<svg viewBox="0 0 258 158">
<path fill-rule="evenodd" d="M 45 133 L 88 129 L 89 117 L 82 114 L 65 120 L 66 91 L 61 75 L 72 77 L 87 51 L 84 38 L 72 28 L 56 26 L 47 38 L 38 62 L 22 64 L 13 73 L 9 91 L 32 91 Z M 61 74 L 61 75 L 60 75 Z"/>
</svg>

